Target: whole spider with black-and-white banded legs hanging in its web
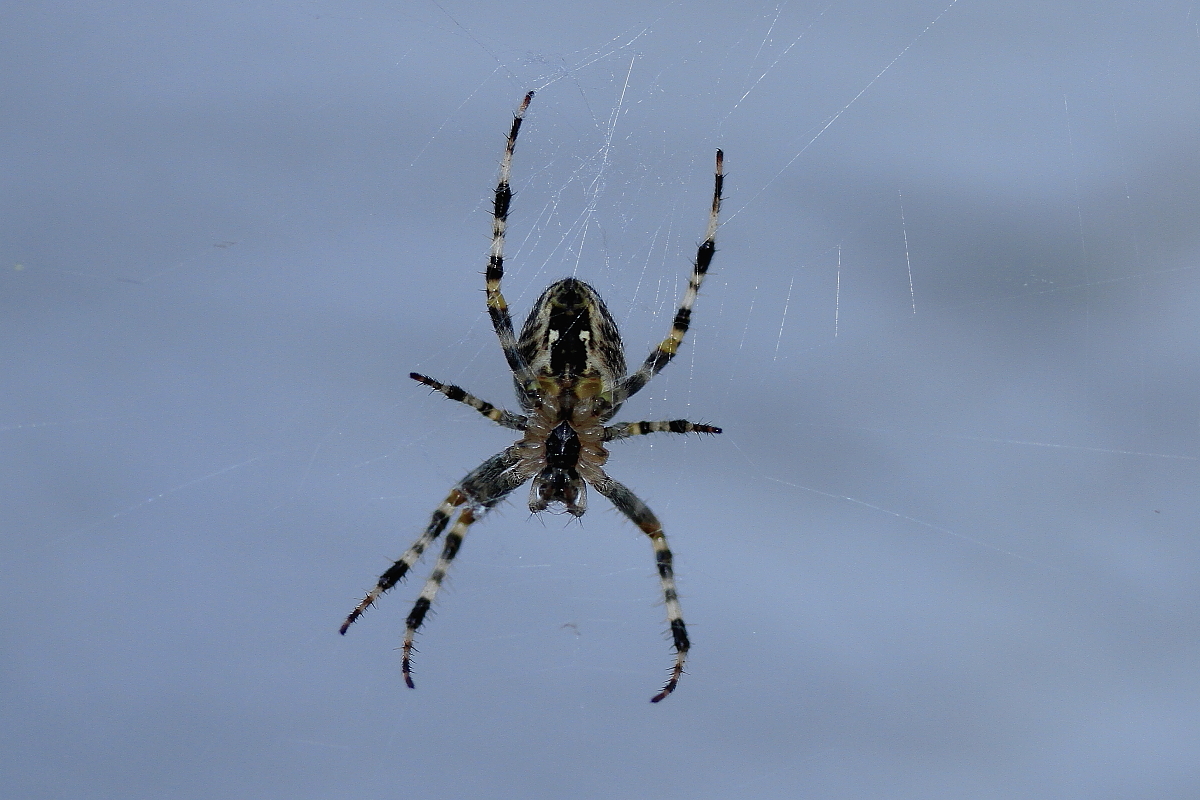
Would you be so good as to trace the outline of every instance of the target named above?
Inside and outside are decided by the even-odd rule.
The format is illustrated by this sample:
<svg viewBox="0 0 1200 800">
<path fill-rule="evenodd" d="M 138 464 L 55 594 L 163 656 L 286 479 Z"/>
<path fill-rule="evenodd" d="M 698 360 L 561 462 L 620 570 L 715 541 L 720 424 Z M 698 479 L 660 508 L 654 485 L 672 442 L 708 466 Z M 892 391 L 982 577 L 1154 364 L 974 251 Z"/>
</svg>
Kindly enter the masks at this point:
<svg viewBox="0 0 1200 800">
<path fill-rule="evenodd" d="M 524 435 L 515 445 L 468 473 L 450 489 L 450 494 L 433 512 L 425 533 L 379 576 L 374 589 L 346 618 L 341 632 L 344 634 L 362 612 L 408 573 L 425 549 L 442 535 L 450 523 L 450 517 L 457 511 L 458 518 L 445 536 L 433 572 L 408 614 L 402 670 L 404 682 L 413 688 L 413 637 L 425 621 L 446 570 L 458 554 L 467 529 L 530 479 L 533 480 L 529 491 L 530 511 L 553 509 L 556 512 L 565 511 L 580 517 L 587 510 L 587 486 L 592 485 L 649 536 L 654 546 L 654 561 L 662 585 L 676 650 L 670 676 L 662 691 L 650 700 L 658 703 L 674 691 L 683 674 L 684 660 L 690 646 L 688 628 L 679 608 L 679 595 L 676 591 L 674 573 L 671 567 L 671 549 L 667 547 L 662 525 L 637 495 L 605 473 L 604 464 L 608 461 L 608 450 L 605 445 L 648 433 L 720 433 L 721 429 L 686 420 L 606 423 L 626 399 L 636 395 L 650 378 L 671 362 L 688 332 L 691 307 L 696 302 L 700 285 L 715 252 L 724 182 L 724 155 L 720 150 L 716 151 L 716 178 L 708 231 L 696 253 L 691 279 L 671 324 L 671 332 L 650 351 L 636 372 L 626 375 L 625 354 L 612 314 L 608 313 L 596 290 L 576 278 L 563 278 L 551 284 L 529 312 L 521 329 L 521 337 L 517 338 L 514 333 L 512 318 L 509 315 L 504 295 L 500 294 L 500 278 L 504 276 L 504 231 L 512 200 L 512 190 L 509 186 L 512 151 L 516 148 L 517 133 L 521 131 L 521 121 L 532 100 L 530 91 L 524 96 L 509 130 L 499 181 L 496 186 L 492 249 L 486 272 L 487 312 L 492 318 L 492 326 L 500 341 L 509 369 L 512 371 L 517 401 L 524 414 L 497 408 L 458 386 L 443 384 L 415 372 L 409 375 L 452 401 L 466 403 L 488 420 L 505 428 L 520 431 Z"/>
</svg>

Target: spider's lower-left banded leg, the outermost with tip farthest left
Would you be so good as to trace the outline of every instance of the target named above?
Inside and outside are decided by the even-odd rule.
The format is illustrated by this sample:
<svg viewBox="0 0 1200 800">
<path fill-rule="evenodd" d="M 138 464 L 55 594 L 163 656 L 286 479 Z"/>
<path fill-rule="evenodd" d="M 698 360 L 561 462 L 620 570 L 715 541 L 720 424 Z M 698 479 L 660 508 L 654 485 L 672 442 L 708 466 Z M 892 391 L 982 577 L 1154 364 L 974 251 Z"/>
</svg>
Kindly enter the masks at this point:
<svg viewBox="0 0 1200 800">
<path fill-rule="evenodd" d="M 362 602 L 360 602 L 358 607 L 350 612 L 350 615 L 346 618 L 346 621 L 342 622 L 341 633 L 344 636 L 347 628 L 349 628 L 359 616 L 362 616 L 362 612 L 370 608 L 383 593 L 395 587 L 404 578 L 406 575 L 408 575 L 408 571 L 413 569 L 416 561 L 421 558 L 425 548 L 432 545 L 433 541 L 442 535 L 442 531 L 445 530 L 455 509 L 464 504 L 468 506 L 468 509 L 458 516 L 461 523 L 462 516 L 466 515 L 467 511 L 472 511 L 473 515 L 474 509 L 482 509 L 486 511 L 503 500 L 509 492 L 524 483 L 528 480 L 528 476 L 512 469 L 518 461 L 520 456 L 516 447 L 509 447 L 504 452 L 492 456 L 458 481 L 458 486 L 450 489 L 450 494 L 446 495 L 446 499 L 443 500 L 442 505 L 439 505 L 433 512 L 433 516 L 430 518 L 430 524 L 425 528 L 425 533 L 422 533 L 416 541 L 413 542 L 407 551 L 404 551 L 404 554 L 401 555 L 395 564 L 388 567 L 388 570 L 379 576 L 379 581 L 376 583 L 374 589 L 368 591 L 367 596 L 362 599 Z M 455 523 L 451 533 L 454 533 L 457 528 L 458 523 Z"/>
</svg>

